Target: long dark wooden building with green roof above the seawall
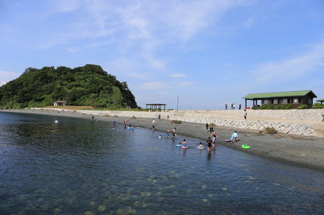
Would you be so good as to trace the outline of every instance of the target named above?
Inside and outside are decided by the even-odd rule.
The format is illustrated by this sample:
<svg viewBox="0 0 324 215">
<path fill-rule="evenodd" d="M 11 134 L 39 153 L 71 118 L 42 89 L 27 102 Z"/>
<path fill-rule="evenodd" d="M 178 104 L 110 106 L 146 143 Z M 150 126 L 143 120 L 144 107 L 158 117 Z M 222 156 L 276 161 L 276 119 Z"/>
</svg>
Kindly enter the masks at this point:
<svg viewBox="0 0 324 215">
<path fill-rule="evenodd" d="M 245 98 L 245 108 L 247 109 L 247 100 L 253 100 L 253 106 L 258 105 L 258 100 L 261 100 L 262 105 L 272 104 L 292 104 L 294 109 L 297 109 L 301 104 L 307 104 L 308 108 L 313 105 L 313 99 L 317 96 L 311 90 L 289 91 L 289 92 L 267 92 L 249 94 Z M 324 100 L 323 100 L 324 101 Z"/>
</svg>

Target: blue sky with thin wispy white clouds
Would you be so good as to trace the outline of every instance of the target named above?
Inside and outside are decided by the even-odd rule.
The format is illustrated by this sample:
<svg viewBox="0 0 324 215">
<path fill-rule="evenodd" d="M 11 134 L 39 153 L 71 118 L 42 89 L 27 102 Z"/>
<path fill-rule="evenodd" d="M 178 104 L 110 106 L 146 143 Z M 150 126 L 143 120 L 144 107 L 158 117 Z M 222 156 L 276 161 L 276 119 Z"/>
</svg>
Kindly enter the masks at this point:
<svg viewBox="0 0 324 215">
<path fill-rule="evenodd" d="M 224 109 L 250 93 L 324 98 L 324 1 L 0 1 L 0 85 L 100 65 L 137 104 Z M 252 102 L 248 102 L 252 105 Z"/>
</svg>

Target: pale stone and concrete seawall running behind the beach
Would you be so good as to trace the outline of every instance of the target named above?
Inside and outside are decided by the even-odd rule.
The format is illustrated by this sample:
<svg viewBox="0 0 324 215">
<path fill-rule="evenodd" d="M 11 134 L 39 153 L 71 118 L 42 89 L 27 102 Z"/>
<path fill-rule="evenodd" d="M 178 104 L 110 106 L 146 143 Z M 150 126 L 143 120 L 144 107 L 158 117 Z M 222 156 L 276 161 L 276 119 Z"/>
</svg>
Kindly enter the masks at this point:
<svg viewBox="0 0 324 215">
<path fill-rule="evenodd" d="M 38 109 L 39 110 L 39 109 Z M 71 111 L 66 109 L 44 109 L 55 111 Z M 214 123 L 217 126 L 227 126 L 241 129 L 263 130 L 264 128 L 275 128 L 278 132 L 324 137 L 324 122 L 321 122 L 322 109 L 310 110 L 247 110 L 247 120 L 243 117 L 242 110 L 199 110 L 199 111 L 170 111 L 170 112 L 136 112 L 136 111 L 85 111 L 75 112 L 86 115 L 115 116 L 121 117 L 117 122 L 126 120 L 126 117 L 161 118 L 169 120 L 181 120 L 193 123 Z"/>
</svg>

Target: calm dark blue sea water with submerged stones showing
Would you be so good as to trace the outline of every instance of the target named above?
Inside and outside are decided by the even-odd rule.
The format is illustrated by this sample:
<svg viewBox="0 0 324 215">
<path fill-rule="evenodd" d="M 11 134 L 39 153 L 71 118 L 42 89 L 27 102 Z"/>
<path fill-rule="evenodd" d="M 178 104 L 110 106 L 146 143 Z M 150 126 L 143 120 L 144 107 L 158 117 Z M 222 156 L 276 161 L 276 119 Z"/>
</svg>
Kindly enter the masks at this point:
<svg viewBox="0 0 324 215">
<path fill-rule="evenodd" d="M 323 173 L 111 127 L 0 112 L 0 214 L 323 214 Z"/>
</svg>

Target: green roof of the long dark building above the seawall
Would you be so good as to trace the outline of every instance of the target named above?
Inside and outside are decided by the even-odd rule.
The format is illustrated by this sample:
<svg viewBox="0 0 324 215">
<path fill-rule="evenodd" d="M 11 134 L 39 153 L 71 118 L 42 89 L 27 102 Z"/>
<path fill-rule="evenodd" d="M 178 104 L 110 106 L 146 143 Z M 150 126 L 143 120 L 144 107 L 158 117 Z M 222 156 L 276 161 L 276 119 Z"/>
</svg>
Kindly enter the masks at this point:
<svg viewBox="0 0 324 215">
<path fill-rule="evenodd" d="M 308 93 L 312 93 L 314 98 L 317 96 L 311 90 L 302 90 L 302 91 L 290 91 L 290 92 L 267 92 L 267 93 L 256 93 L 249 94 L 242 98 L 254 99 L 254 98 L 273 98 L 273 97 L 295 97 L 295 96 L 304 96 Z"/>
</svg>

